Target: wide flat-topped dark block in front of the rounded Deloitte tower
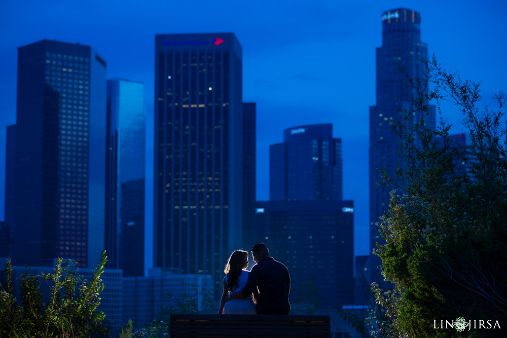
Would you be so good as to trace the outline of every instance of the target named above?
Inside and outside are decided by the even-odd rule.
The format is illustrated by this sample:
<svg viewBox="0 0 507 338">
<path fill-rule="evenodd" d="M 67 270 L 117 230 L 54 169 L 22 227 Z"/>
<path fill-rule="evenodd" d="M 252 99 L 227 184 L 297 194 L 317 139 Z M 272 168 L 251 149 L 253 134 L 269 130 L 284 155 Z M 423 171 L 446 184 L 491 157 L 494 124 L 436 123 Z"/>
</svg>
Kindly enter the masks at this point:
<svg viewBox="0 0 507 338">
<path fill-rule="evenodd" d="M 352 201 L 257 202 L 251 242 L 264 242 L 287 267 L 293 309 L 311 302 L 313 290 L 322 308 L 352 304 L 353 212 Z"/>
</svg>

